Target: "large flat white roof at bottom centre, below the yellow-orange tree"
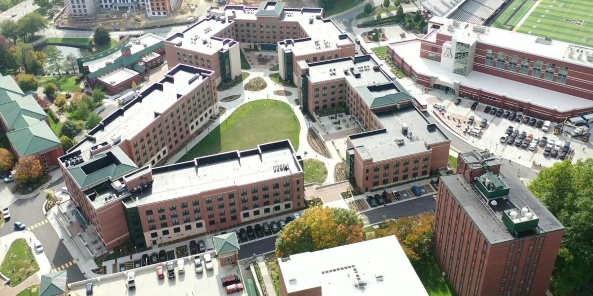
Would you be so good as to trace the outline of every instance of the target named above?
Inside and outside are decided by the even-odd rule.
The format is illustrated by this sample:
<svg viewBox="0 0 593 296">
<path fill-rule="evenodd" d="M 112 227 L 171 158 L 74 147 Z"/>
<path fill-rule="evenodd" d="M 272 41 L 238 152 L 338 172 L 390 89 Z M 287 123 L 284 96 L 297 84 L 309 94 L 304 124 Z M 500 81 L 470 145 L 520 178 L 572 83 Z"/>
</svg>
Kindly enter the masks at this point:
<svg viewBox="0 0 593 296">
<path fill-rule="evenodd" d="M 300 253 L 278 264 L 288 293 L 321 286 L 324 296 L 428 295 L 395 236 Z"/>
</svg>

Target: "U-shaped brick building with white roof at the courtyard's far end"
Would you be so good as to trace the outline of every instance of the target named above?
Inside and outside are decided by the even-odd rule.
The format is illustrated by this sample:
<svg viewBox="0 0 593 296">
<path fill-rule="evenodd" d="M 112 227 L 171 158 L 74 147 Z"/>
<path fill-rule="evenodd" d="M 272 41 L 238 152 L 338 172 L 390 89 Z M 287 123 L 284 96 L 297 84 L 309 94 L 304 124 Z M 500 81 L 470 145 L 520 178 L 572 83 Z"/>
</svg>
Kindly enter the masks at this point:
<svg viewBox="0 0 593 296">
<path fill-rule="evenodd" d="M 354 42 L 322 16 L 321 8 L 285 8 L 269 1 L 211 9 L 209 17 L 165 40 L 167 64 L 212 69 L 218 85 L 241 75 L 240 48 L 278 50 L 280 75 L 292 82 L 297 60 L 354 55 Z"/>
</svg>

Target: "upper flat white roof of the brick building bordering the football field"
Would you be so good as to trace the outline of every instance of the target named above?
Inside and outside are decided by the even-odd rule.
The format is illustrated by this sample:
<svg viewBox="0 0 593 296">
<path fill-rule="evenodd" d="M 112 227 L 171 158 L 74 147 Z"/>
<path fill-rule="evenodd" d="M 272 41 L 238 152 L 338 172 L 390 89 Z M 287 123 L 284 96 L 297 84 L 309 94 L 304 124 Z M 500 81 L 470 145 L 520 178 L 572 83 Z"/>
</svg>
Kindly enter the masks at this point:
<svg viewBox="0 0 593 296">
<path fill-rule="evenodd" d="M 437 19 L 437 21 L 442 21 L 442 18 Z M 455 36 L 462 42 L 463 40 L 479 40 L 480 43 L 492 44 L 493 46 L 516 50 L 518 52 L 531 53 L 541 57 L 549 57 L 550 59 L 593 67 L 593 49 L 590 47 L 576 46 L 575 44 L 563 41 L 550 41 L 529 34 L 456 20 L 449 20 L 439 29 L 439 33 Z"/>
</svg>

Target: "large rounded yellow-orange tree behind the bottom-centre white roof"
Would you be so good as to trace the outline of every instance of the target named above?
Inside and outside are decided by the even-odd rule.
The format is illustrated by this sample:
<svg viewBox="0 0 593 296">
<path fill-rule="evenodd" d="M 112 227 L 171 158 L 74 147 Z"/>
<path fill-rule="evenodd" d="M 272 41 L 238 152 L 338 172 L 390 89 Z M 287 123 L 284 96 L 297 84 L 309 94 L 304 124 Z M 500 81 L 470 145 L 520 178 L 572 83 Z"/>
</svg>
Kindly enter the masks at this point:
<svg viewBox="0 0 593 296">
<path fill-rule="evenodd" d="M 288 223 L 276 239 L 279 258 L 302 252 L 329 249 L 362 242 L 362 221 L 354 211 L 343 208 L 314 207 L 302 218 Z"/>
</svg>

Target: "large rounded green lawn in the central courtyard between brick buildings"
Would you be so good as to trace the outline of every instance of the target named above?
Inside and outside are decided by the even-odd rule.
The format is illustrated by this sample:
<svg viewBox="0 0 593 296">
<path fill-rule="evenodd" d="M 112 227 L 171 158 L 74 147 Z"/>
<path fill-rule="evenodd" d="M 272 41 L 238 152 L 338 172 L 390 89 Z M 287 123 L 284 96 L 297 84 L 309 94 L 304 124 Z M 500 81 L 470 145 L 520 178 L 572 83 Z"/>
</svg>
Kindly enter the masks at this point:
<svg viewBox="0 0 593 296">
<path fill-rule="evenodd" d="M 258 144 L 290 139 L 298 150 L 301 126 L 292 107 L 284 102 L 262 99 L 238 108 L 221 125 L 192 147 L 177 162 L 231 150 L 253 149 Z"/>
</svg>

